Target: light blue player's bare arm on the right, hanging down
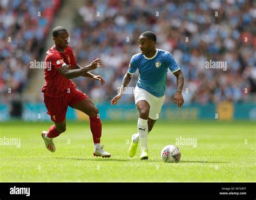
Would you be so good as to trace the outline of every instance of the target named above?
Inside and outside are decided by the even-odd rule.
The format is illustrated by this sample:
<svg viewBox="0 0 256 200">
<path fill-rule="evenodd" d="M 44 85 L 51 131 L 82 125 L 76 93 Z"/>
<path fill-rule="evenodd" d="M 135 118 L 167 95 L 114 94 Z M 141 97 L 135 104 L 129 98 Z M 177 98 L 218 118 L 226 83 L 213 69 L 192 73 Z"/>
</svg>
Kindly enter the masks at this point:
<svg viewBox="0 0 256 200">
<path fill-rule="evenodd" d="M 184 85 L 184 76 L 181 70 L 173 73 L 177 78 L 177 89 L 174 96 L 174 103 L 180 108 L 184 104 L 183 95 L 181 94 Z"/>
</svg>

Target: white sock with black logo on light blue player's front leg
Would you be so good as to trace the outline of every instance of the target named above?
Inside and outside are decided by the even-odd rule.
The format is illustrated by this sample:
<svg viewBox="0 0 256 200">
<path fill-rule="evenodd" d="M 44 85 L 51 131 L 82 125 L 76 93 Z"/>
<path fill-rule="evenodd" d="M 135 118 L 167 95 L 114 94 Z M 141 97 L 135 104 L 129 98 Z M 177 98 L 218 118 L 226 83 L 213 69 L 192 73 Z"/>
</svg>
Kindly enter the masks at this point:
<svg viewBox="0 0 256 200">
<path fill-rule="evenodd" d="M 147 127 L 147 120 L 139 118 L 138 120 L 138 133 L 140 140 L 140 147 L 142 150 L 147 149 L 147 132 L 149 128 Z"/>
</svg>

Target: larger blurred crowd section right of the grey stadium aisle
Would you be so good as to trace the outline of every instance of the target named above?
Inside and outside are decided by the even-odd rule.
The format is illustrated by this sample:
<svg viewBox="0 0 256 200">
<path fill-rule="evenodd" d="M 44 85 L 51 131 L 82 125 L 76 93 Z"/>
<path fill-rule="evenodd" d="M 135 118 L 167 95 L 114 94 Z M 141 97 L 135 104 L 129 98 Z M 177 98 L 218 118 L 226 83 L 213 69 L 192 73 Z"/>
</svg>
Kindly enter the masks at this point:
<svg viewBox="0 0 256 200">
<path fill-rule="evenodd" d="M 77 87 L 94 101 L 110 101 L 117 94 L 138 38 L 156 33 L 158 49 L 173 54 L 185 76 L 186 103 L 242 102 L 255 93 L 255 1 L 86 1 L 71 32 L 71 46 L 78 64 L 103 59 L 105 87 L 83 77 Z M 206 61 L 226 61 L 223 69 L 208 69 Z M 138 71 L 131 87 L 136 85 Z M 169 71 L 165 102 L 173 102 L 176 77 Z M 133 101 L 124 95 L 123 101 Z"/>
</svg>

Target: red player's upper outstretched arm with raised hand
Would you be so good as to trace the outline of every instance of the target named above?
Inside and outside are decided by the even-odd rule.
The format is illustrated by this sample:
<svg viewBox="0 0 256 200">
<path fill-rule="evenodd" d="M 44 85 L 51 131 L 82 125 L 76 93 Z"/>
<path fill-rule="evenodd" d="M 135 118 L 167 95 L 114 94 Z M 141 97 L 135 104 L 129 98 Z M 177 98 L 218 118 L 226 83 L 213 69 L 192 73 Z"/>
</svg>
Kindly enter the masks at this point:
<svg viewBox="0 0 256 200">
<path fill-rule="evenodd" d="M 95 70 L 98 67 L 102 67 L 102 60 L 99 58 L 93 60 L 90 65 L 75 70 L 70 70 L 68 65 L 64 65 L 58 69 L 58 72 L 61 73 L 65 78 L 72 79 L 80 77 L 91 70 Z"/>
</svg>

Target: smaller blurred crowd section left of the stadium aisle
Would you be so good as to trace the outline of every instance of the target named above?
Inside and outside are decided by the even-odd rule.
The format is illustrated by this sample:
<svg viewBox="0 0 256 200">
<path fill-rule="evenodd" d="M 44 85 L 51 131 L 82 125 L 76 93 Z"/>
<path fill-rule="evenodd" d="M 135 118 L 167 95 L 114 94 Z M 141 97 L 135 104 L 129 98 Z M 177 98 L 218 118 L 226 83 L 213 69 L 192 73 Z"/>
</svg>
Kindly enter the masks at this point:
<svg viewBox="0 0 256 200">
<path fill-rule="evenodd" d="M 44 39 L 60 0 L 0 1 L 0 102 L 13 100 L 29 84 L 30 62 L 43 53 Z"/>
</svg>

